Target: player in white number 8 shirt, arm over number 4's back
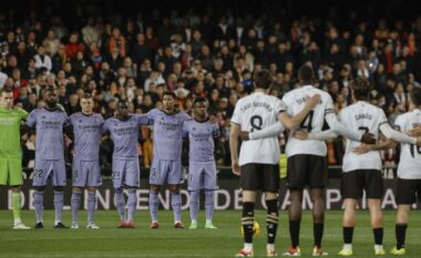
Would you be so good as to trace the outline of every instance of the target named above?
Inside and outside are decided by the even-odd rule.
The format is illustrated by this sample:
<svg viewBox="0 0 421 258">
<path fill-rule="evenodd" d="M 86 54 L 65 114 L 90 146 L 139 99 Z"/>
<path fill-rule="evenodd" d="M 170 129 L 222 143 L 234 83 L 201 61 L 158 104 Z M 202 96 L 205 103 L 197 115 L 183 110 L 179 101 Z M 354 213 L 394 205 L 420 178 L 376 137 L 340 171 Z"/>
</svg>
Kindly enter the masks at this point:
<svg viewBox="0 0 421 258">
<path fill-rule="evenodd" d="M 239 176 L 239 186 L 243 194 L 242 227 L 244 231 L 244 247 L 236 257 L 253 257 L 253 226 L 255 223 L 255 202 L 258 190 L 265 193 L 267 206 L 267 246 L 268 257 L 277 256 L 275 249 L 276 231 L 278 227 L 278 192 L 279 192 L 279 144 L 278 136 L 256 141 L 243 142 L 238 158 L 238 137 L 240 132 L 258 132 L 269 126 L 278 126 L 277 117 L 283 110 L 278 97 L 268 95 L 273 78 L 267 70 L 254 74 L 255 92 L 240 99 L 232 117 L 229 148 L 232 169 Z M 306 101 L 305 101 L 306 102 Z M 319 102 L 315 95 L 306 102 L 297 116 L 289 117 L 287 124 L 298 126 L 312 107 Z M 281 125 L 283 126 L 283 125 Z"/>
</svg>

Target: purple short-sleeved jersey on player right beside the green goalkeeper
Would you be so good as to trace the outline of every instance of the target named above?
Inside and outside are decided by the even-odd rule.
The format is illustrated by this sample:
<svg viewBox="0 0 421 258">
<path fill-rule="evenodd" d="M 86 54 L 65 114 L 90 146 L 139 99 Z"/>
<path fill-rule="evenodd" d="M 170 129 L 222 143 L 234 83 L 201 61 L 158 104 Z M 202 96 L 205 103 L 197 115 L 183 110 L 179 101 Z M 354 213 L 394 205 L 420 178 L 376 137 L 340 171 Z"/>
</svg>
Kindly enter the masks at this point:
<svg viewBox="0 0 421 258">
<path fill-rule="evenodd" d="M 35 156 L 41 159 L 64 159 L 63 126 L 68 125 L 64 111 L 33 110 L 27 125 L 37 131 Z"/>
</svg>

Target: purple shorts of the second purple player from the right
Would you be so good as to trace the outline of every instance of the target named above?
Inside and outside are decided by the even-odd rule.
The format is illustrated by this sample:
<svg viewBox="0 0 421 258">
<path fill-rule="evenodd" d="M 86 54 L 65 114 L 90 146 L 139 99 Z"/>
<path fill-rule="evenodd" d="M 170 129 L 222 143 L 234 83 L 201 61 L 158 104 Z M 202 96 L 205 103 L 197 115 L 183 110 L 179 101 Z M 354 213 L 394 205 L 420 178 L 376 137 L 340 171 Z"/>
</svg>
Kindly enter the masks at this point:
<svg viewBox="0 0 421 258">
<path fill-rule="evenodd" d="M 151 185 L 183 184 L 182 162 L 154 158 L 150 171 Z"/>
</svg>

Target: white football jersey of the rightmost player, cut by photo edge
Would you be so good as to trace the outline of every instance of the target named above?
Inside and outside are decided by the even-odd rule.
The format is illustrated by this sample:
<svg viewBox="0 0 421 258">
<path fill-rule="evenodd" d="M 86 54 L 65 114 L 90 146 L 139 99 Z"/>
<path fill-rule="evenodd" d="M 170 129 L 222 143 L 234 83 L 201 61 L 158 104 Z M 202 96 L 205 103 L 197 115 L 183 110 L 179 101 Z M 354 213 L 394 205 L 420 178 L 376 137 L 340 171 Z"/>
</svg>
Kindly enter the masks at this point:
<svg viewBox="0 0 421 258">
<path fill-rule="evenodd" d="M 408 131 L 417 125 L 421 125 L 421 111 L 414 110 L 398 116 L 394 125 L 402 133 L 408 133 Z M 403 179 L 421 179 L 421 147 L 401 143 L 398 177 Z"/>
</svg>

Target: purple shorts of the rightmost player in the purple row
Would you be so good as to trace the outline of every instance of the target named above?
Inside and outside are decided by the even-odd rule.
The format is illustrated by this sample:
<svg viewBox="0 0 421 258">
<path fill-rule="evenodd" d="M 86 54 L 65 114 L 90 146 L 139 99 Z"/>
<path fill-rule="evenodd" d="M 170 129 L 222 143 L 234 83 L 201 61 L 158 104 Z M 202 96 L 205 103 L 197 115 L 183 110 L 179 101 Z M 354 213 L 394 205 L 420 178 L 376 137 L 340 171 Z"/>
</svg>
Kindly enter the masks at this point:
<svg viewBox="0 0 421 258">
<path fill-rule="evenodd" d="M 188 165 L 188 190 L 217 189 L 215 163 L 189 162 Z"/>
</svg>

